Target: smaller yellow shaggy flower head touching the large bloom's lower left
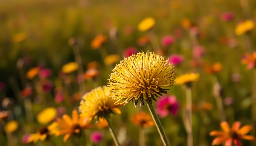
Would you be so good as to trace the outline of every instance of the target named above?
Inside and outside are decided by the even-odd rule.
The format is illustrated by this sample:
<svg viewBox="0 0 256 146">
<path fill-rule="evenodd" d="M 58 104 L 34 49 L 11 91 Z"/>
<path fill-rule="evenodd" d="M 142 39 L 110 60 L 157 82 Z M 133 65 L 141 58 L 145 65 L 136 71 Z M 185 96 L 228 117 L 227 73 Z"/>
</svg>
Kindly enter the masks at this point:
<svg viewBox="0 0 256 146">
<path fill-rule="evenodd" d="M 114 104 L 114 100 L 111 99 L 111 92 L 108 91 L 107 86 L 98 87 L 90 92 L 86 93 L 80 101 L 79 112 L 82 117 L 99 119 L 103 121 L 109 114 L 114 113 L 121 114 L 118 105 Z"/>
</svg>

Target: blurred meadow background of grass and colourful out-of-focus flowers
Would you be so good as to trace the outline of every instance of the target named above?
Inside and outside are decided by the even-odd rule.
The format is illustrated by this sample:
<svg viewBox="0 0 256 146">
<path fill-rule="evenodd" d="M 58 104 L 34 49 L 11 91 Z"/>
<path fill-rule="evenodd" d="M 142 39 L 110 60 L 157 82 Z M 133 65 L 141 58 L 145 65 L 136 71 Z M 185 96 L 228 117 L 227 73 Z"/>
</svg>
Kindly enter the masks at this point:
<svg viewBox="0 0 256 146">
<path fill-rule="evenodd" d="M 78 111 L 82 95 L 108 85 L 119 60 L 141 51 L 169 58 L 178 79 L 197 75 L 190 82 L 194 146 L 210 146 L 223 121 L 255 135 L 255 21 L 255 0 L 1 0 L 0 145 L 115 145 L 106 121 L 95 119 L 66 141 L 29 137 Z M 153 102 L 170 145 L 192 146 L 186 96 L 174 83 Z M 146 106 L 118 108 L 111 122 L 121 145 L 162 145 Z"/>
</svg>

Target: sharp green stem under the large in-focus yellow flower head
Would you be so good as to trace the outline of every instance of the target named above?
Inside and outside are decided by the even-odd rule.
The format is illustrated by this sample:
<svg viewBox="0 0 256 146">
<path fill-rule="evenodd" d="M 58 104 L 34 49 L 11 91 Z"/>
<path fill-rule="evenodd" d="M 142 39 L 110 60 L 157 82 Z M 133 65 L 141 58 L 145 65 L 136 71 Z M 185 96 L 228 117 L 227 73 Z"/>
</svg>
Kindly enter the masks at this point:
<svg viewBox="0 0 256 146">
<path fill-rule="evenodd" d="M 150 111 L 150 114 L 151 114 L 151 116 L 152 116 L 152 118 L 153 118 L 153 120 L 154 120 L 154 122 L 155 122 L 155 124 L 157 126 L 157 130 L 159 132 L 159 135 L 161 137 L 161 140 L 162 140 L 164 146 L 170 146 L 169 141 L 168 141 L 168 139 L 166 137 L 165 131 L 164 131 L 164 129 L 163 129 L 161 123 L 160 123 L 159 118 L 157 117 L 157 114 L 156 114 L 156 111 L 154 109 L 154 106 L 152 104 L 150 104 L 150 103 L 147 103 L 147 105 L 148 105 L 148 109 Z"/>
</svg>

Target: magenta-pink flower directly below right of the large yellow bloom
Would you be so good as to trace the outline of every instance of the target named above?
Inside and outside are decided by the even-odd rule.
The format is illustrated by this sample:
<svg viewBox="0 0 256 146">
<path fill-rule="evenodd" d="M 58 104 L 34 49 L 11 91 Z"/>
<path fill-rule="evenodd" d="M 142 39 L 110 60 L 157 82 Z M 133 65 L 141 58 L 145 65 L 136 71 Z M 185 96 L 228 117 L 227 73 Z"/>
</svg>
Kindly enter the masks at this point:
<svg viewBox="0 0 256 146">
<path fill-rule="evenodd" d="M 179 102 L 174 95 L 163 96 L 157 102 L 156 112 L 159 117 L 164 118 L 167 115 L 176 115 L 179 110 Z"/>
</svg>

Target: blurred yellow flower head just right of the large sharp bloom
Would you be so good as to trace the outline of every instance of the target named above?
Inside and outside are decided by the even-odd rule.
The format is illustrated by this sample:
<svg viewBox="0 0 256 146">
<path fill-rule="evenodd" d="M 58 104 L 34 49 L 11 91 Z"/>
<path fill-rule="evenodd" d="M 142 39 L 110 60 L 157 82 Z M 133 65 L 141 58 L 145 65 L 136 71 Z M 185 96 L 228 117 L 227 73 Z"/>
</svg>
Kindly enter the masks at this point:
<svg viewBox="0 0 256 146">
<path fill-rule="evenodd" d="M 199 77 L 200 77 L 199 73 L 188 73 L 188 74 L 180 75 L 176 79 L 176 84 L 177 85 L 190 84 L 192 82 L 197 81 Z"/>
</svg>

